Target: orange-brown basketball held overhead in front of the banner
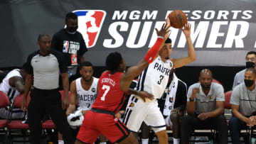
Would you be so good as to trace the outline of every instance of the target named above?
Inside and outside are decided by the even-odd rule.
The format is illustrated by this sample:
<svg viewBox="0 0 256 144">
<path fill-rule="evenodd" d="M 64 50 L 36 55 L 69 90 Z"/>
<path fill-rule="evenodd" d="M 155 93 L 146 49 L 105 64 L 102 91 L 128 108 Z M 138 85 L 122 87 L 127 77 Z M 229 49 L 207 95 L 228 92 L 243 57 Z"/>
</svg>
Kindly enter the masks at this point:
<svg viewBox="0 0 256 144">
<path fill-rule="evenodd" d="M 171 23 L 171 26 L 174 28 L 183 28 L 183 26 L 188 22 L 186 14 L 181 10 L 175 10 L 169 13 L 166 21 Z"/>
</svg>

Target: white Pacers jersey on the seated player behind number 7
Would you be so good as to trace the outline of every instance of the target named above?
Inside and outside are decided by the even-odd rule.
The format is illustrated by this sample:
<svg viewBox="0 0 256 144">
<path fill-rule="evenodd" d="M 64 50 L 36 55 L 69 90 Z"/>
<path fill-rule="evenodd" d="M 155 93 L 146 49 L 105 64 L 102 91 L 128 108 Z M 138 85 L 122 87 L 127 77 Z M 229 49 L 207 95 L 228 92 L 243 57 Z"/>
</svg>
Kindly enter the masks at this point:
<svg viewBox="0 0 256 144">
<path fill-rule="evenodd" d="M 90 110 L 92 108 L 92 104 L 97 98 L 97 82 L 99 81 L 99 79 L 97 79 L 96 77 L 92 78 L 92 85 L 87 91 L 82 88 L 82 77 L 75 80 L 79 105 L 78 109 L 82 109 L 83 111 Z"/>
</svg>

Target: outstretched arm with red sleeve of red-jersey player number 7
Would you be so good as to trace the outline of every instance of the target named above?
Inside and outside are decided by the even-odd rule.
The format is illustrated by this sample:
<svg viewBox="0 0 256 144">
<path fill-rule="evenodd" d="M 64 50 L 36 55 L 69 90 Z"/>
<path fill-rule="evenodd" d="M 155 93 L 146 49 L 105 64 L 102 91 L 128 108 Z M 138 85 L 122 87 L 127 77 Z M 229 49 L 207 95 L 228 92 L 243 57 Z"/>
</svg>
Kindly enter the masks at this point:
<svg viewBox="0 0 256 144">
<path fill-rule="evenodd" d="M 160 38 L 157 38 L 156 43 L 152 48 L 149 49 L 144 59 L 140 60 L 137 65 L 129 67 L 127 72 L 124 72 L 124 74 L 122 74 L 119 87 L 122 89 L 123 92 L 127 92 L 127 90 L 129 89 L 129 85 L 132 82 L 132 79 L 141 74 L 142 71 L 149 65 L 149 63 L 153 62 L 164 41 L 163 38 L 166 38 L 166 35 L 169 34 L 169 26 L 166 26 L 164 24 L 160 31 L 156 29 L 156 33 Z"/>
</svg>

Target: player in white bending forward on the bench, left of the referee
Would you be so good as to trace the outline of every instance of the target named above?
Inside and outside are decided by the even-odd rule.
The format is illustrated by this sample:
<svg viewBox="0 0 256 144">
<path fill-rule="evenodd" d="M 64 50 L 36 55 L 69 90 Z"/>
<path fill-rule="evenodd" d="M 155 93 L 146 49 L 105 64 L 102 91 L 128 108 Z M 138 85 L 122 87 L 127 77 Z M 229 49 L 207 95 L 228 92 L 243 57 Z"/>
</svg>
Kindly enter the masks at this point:
<svg viewBox="0 0 256 144">
<path fill-rule="evenodd" d="M 0 91 L 4 92 L 11 102 L 14 102 L 14 99 L 18 94 L 22 94 L 24 92 L 24 79 L 26 78 L 25 65 L 19 69 L 14 69 L 9 72 L 6 77 L 4 77 L 3 81 L 0 84 Z M 13 109 L 13 113 L 11 114 L 11 118 L 23 118 L 25 113 L 21 109 Z M 9 117 L 9 106 L 6 108 L 0 109 L 0 118 L 7 119 Z"/>
</svg>

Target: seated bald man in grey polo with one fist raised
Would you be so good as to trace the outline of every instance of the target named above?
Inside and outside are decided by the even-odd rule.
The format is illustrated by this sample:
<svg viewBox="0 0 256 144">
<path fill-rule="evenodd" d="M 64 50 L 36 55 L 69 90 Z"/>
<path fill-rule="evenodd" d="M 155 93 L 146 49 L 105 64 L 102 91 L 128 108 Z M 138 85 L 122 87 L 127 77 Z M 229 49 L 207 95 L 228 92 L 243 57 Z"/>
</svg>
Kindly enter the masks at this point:
<svg viewBox="0 0 256 144">
<path fill-rule="evenodd" d="M 188 88 L 188 115 L 181 123 L 181 141 L 189 142 L 189 135 L 198 126 L 210 126 L 218 131 L 218 143 L 228 143 L 228 126 L 224 112 L 223 86 L 213 81 L 212 72 L 201 70 L 200 83 L 192 84 Z"/>
</svg>

